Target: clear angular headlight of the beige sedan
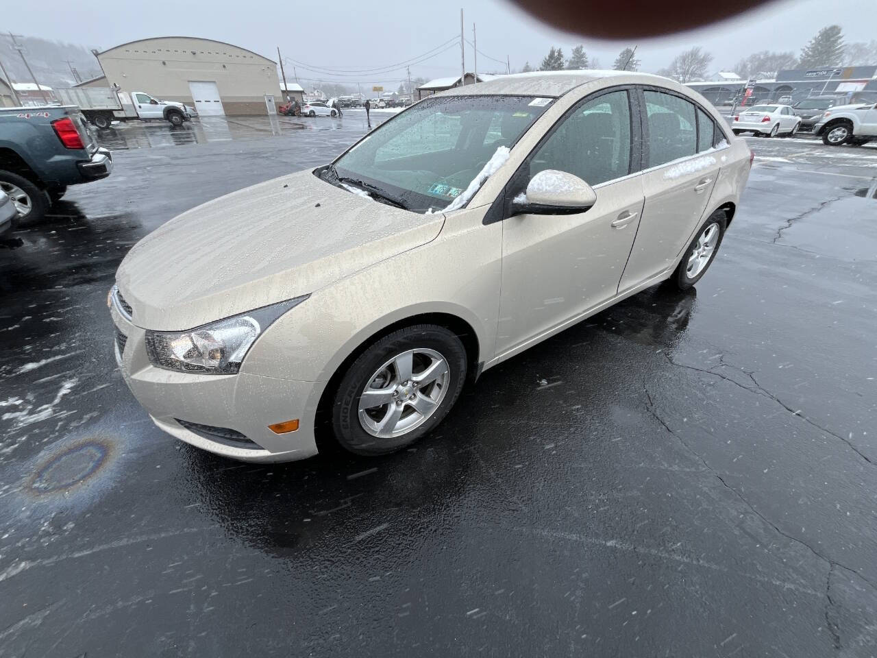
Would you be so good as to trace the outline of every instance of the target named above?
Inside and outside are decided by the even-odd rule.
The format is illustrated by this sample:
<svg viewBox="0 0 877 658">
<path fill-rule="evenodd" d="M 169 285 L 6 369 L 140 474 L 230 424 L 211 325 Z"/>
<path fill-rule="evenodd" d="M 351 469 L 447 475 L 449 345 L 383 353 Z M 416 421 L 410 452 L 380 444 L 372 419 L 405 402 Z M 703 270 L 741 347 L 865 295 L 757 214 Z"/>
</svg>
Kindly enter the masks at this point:
<svg viewBox="0 0 877 658">
<path fill-rule="evenodd" d="M 289 309 L 301 304 L 303 295 L 255 311 L 233 315 L 185 332 L 146 331 L 146 354 L 153 366 L 178 372 L 233 375 L 246 353 L 268 326 Z"/>
</svg>

